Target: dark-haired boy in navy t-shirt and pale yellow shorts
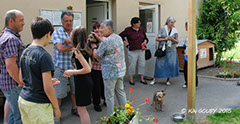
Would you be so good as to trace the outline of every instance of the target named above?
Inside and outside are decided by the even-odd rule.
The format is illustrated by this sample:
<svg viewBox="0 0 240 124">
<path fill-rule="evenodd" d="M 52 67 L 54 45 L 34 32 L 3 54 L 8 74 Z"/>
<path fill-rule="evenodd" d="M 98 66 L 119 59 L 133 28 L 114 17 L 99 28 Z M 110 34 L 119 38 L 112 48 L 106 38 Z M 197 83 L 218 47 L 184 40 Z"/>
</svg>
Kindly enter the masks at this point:
<svg viewBox="0 0 240 124">
<path fill-rule="evenodd" d="M 54 124 L 61 112 L 53 85 L 60 83 L 52 79 L 54 65 L 50 54 L 43 48 L 52 38 L 52 24 L 43 17 L 37 17 L 32 25 L 32 44 L 21 56 L 20 81 L 25 85 L 18 100 L 23 123 Z"/>
</svg>

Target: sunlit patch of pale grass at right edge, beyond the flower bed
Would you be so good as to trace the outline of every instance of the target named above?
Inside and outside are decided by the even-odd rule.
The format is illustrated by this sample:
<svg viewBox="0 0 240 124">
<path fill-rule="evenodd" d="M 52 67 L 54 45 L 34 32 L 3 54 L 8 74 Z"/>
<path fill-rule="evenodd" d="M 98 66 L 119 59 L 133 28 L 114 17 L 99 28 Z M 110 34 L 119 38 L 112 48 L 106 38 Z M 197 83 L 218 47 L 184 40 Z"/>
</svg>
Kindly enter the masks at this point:
<svg viewBox="0 0 240 124">
<path fill-rule="evenodd" d="M 240 59 L 240 45 L 236 45 L 232 50 L 223 53 L 223 58 L 231 58 L 232 56 L 233 59 Z"/>
</svg>

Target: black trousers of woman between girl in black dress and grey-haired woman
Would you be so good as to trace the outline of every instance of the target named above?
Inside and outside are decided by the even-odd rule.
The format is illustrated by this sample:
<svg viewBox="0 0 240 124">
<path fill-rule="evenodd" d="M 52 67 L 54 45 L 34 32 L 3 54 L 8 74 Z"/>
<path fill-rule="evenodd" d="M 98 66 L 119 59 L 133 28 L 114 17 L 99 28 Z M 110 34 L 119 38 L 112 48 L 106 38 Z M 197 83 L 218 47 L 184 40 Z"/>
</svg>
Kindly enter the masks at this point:
<svg viewBox="0 0 240 124">
<path fill-rule="evenodd" d="M 93 79 L 92 88 L 93 105 L 99 105 L 101 103 L 101 98 L 105 100 L 102 71 L 92 69 L 91 75 Z"/>
</svg>

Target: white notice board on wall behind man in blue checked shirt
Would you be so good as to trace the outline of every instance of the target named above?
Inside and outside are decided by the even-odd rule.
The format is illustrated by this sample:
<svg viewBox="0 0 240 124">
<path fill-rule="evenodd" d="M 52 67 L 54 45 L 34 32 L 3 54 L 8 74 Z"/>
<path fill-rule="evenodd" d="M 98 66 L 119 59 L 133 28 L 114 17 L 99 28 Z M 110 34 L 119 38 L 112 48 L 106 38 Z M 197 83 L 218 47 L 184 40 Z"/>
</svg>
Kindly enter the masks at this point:
<svg viewBox="0 0 240 124">
<path fill-rule="evenodd" d="M 54 27 L 60 27 L 62 25 L 61 14 L 63 11 L 67 10 L 40 9 L 40 15 L 47 18 Z M 82 25 L 82 12 L 73 11 L 73 14 L 73 28 Z"/>
</svg>

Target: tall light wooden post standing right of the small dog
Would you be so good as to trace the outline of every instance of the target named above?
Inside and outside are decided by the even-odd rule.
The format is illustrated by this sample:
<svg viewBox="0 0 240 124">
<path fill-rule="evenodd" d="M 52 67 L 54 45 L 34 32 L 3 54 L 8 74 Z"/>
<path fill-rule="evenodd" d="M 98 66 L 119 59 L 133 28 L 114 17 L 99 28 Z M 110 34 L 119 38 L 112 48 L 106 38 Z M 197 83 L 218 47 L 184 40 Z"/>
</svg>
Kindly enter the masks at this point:
<svg viewBox="0 0 240 124">
<path fill-rule="evenodd" d="M 196 0 L 188 0 L 187 119 L 195 121 L 196 96 Z"/>
</svg>

